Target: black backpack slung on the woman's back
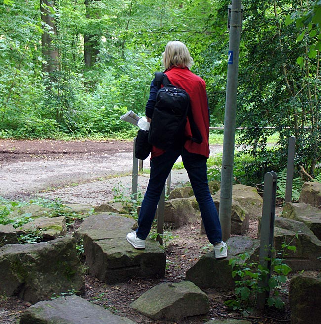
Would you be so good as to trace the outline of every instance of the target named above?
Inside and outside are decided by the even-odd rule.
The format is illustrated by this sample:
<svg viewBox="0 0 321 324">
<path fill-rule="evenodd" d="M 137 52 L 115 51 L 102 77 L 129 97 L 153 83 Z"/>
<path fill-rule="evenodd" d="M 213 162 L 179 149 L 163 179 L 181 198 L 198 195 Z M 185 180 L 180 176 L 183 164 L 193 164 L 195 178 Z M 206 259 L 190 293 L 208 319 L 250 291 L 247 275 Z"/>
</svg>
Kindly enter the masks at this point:
<svg viewBox="0 0 321 324">
<path fill-rule="evenodd" d="M 163 150 L 183 146 L 187 139 L 184 133 L 188 116 L 192 131 L 190 139 L 200 144 L 202 136 L 193 119 L 188 93 L 170 84 L 166 74 L 162 72 L 155 73 L 155 83 L 159 90 L 156 95 L 148 142 Z"/>
</svg>

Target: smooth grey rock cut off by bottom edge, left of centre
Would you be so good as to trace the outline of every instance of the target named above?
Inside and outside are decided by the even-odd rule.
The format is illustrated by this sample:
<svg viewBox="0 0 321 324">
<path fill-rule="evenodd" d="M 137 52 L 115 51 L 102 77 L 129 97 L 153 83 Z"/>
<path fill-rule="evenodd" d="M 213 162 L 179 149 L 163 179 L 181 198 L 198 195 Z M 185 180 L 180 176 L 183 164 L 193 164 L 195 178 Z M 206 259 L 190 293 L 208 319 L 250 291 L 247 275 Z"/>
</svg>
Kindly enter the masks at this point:
<svg viewBox="0 0 321 324">
<path fill-rule="evenodd" d="M 20 324 L 135 324 L 78 296 L 59 297 L 30 306 Z M 137 323 L 136 323 L 137 324 Z"/>
</svg>

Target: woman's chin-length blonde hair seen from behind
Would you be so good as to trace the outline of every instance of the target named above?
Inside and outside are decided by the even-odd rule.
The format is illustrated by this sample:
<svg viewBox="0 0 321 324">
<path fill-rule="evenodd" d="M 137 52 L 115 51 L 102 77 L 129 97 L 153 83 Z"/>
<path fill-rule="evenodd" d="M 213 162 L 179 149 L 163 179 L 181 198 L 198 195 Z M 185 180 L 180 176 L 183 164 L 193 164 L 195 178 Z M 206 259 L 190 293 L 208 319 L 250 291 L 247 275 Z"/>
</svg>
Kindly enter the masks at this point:
<svg viewBox="0 0 321 324">
<path fill-rule="evenodd" d="M 170 41 L 163 52 L 163 65 L 167 70 L 171 66 L 188 67 L 193 65 L 193 59 L 187 47 L 180 41 Z"/>
</svg>

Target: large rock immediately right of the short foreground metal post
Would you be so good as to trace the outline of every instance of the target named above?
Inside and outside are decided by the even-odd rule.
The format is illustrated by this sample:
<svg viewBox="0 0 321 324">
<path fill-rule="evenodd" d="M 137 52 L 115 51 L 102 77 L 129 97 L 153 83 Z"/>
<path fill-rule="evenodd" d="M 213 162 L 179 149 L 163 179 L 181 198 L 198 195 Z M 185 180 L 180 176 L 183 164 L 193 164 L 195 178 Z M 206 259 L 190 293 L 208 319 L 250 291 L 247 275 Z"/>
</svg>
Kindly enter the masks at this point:
<svg viewBox="0 0 321 324">
<path fill-rule="evenodd" d="M 297 237 L 296 237 L 297 236 Z M 293 271 L 321 269 L 321 241 L 302 222 L 283 217 L 274 221 L 274 246 L 282 251 L 282 245 L 296 246 L 296 251 L 286 250 L 285 263 Z"/>
</svg>

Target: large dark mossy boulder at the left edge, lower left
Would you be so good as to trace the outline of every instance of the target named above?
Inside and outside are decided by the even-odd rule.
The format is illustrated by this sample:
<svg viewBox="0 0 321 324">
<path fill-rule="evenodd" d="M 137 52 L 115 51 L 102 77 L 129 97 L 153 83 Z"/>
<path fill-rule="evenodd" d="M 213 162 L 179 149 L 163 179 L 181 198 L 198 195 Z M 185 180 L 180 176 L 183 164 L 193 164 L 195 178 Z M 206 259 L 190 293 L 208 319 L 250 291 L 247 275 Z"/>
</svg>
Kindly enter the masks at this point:
<svg viewBox="0 0 321 324">
<path fill-rule="evenodd" d="M 31 303 L 53 293 L 84 292 L 84 278 L 75 240 L 66 236 L 36 244 L 0 248 L 0 294 L 16 295 Z"/>
</svg>

